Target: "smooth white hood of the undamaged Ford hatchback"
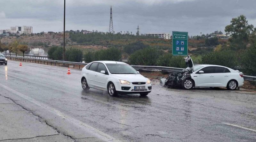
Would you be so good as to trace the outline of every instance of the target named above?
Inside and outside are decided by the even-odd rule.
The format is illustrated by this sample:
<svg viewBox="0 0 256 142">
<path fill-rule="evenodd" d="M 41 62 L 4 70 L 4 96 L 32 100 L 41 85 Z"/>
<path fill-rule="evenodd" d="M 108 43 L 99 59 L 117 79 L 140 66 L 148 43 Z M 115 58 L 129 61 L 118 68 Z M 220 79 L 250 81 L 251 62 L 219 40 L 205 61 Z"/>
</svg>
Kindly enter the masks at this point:
<svg viewBox="0 0 256 142">
<path fill-rule="evenodd" d="M 147 82 L 147 78 L 141 74 L 112 74 L 112 76 L 129 82 Z"/>
</svg>

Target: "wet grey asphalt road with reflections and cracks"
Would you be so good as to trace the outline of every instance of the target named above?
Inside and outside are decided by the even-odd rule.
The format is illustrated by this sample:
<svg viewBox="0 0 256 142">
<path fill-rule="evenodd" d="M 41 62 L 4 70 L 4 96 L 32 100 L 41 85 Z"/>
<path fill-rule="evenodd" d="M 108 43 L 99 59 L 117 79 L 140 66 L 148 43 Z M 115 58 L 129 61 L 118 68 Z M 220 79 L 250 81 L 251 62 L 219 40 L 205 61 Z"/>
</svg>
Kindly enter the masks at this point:
<svg viewBox="0 0 256 142">
<path fill-rule="evenodd" d="M 250 93 L 153 85 L 147 97 L 110 97 L 95 89 L 84 92 L 79 70 L 67 75 L 66 68 L 22 64 L 0 65 L 0 96 L 47 125 L 29 127 L 38 131 L 33 137 L 52 131 L 48 135 L 58 136 L 56 141 L 256 141 L 256 95 Z M 3 112 L 0 118 L 11 115 Z M 34 141 L 12 127 L 0 131 L 0 140 L 16 135 Z"/>
</svg>

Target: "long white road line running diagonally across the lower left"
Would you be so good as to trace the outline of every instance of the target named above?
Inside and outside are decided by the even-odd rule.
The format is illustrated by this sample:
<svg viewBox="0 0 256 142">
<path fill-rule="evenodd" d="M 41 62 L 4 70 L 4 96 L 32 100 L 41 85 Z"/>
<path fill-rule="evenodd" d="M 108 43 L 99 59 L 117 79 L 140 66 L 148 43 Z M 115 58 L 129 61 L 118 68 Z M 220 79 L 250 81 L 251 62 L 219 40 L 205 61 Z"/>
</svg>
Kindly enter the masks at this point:
<svg viewBox="0 0 256 142">
<path fill-rule="evenodd" d="M 79 126 L 79 127 L 80 127 L 81 125 L 84 126 L 84 127 L 82 127 L 82 128 L 84 128 L 86 131 L 88 131 L 88 133 L 91 133 L 91 134 L 95 135 L 96 138 L 99 138 L 99 139 L 101 139 L 101 140 L 103 140 L 103 141 L 121 142 L 120 140 L 116 140 L 116 138 L 113 138 L 112 136 L 109 136 L 108 134 L 106 134 L 106 133 L 104 133 L 104 132 L 102 132 L 102 131 L 100 131 L 100 130 L 98 130 L 98 129 L 95 129 L 95 128 L 93 128 L 92 126 L 87 125 L 87 124 L 84 123 L 84 122 L 81 122 L 81 121 L 79 121 L 79 120 L 77 120 L 77 119 L 75 119 L 75 118 L 73 118 L 73 117 L 71 117 L 71 116 L 68 116 L 68 115 L 66 115 L 66 114 L 64 114 L 64 113 L 62 113 L 62 112 L 60 112 L 59 110 L 56 110 L 56 109 L 54 109 L 54 108 L 52 108 L 52 107 L 49 107 L 49 106 L 47 106 L 47 105 L 44 104 L 44 103 L 41 103 L 41 102 L 39 102 L 39 101 L 36 101 L 35 99 L 30 98 L 30 97 L 28 97 L 28 96 L 26 96 L 26 95 L 24 95 L 24 94 L 22 94 L 22 93 L 20 93 L 20 92 L 18 92 L 18 91 L 16 91 L 16 90 L 13 90 L 13 89 L 10 88 L 10 87 L 4 86 L 4 85 L 1 84 L 1 83 L 0 83 L 0 86 L 3 87 L 3 88 L 6 89 L 6 90 L 8 90 L 8 91 L 10 91 L 10 92 L 12 92 L 12 93 L 18 95 L 18 96 L 20 96 L 20 97 L 26 99 L 26 100 L 28 100 L 28 101 L 30 101 L 30 102 L 32 102 L 32 103 L 38 105 L 38 106 L 40 106 L 40 107 L 42 107 L 42 108 L 44 108 L 44 109 L 46 109 L 46 110 L 52 112 L 53 114 L 56 114 L 56 115 L 58 115 L 58 116 L 60 116 L 60 117 L 62 117 L 62 118 L 64 118 L 64 119 L 68 120 L 70 123 L 73 123 L 73 124 L 75 124 L 75 125 L 77 125 L 77 126 Z"/>
</svg>

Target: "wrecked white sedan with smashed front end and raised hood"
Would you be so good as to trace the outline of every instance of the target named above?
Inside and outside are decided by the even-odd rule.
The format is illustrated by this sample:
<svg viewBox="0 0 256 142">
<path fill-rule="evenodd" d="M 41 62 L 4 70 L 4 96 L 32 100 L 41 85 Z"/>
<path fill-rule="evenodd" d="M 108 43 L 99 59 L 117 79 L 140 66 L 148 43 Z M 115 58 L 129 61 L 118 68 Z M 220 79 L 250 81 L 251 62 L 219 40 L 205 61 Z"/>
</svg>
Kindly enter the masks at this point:
<svg viewBox="0 0 256 142">
<path fill-rule="evenodd" d="M 194 65 L 190 56 L 184 59 L 188 67 L 180 72 L 171 73 L 168 78 L 162 78 L 160 82 L 163 86 L 180 86 L 184 89 L 227 87 L 228 90 L 235 90 L 244 85 L 242 72 L 219 65 Z"/>
</svg>

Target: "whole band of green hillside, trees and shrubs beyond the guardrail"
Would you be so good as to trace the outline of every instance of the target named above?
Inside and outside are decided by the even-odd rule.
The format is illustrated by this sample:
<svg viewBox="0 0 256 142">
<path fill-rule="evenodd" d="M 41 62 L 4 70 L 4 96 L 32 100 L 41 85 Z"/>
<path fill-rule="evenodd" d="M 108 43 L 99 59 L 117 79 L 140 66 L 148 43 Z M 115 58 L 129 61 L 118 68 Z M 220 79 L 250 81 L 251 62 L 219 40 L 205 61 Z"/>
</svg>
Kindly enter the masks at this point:
<svg viewBox="0 0 256 142">
<path fill-rule="evenodd" d="M 136 33 L 121 31 L 115 34 L 92 32 L 82 34 L 79 30 L 66 31 L 66 55 L 62 59 L 63 34 L 31 34 L 19 37 L 2 38 L 0 52 L 24 54 L 27 47 L 41 46 L 53 60 L 72 62 L 92 62 L 96 60 L 128 60 L 133 65 L 157 65 L 185 68 L 184 56 L 172 56 L 172 39 L 160 39 L 153 36 L 136 35 Z M 256 76 L 256 28 L 249 25 L 246 17 L 240 15 L 231 19 L 225 27 L 228 40 L 210 38 L 211 34 L 223 34 L 214 31 L 211 34 L 189 36 L 188 53 L 194 64 L 217 64 L 230 68 L 243 66 L 246 75 Z M 47 40 L 24 40 L 41 37 Z M 7 42 L 8 41 L 8 42 Z"/>
</svg>

